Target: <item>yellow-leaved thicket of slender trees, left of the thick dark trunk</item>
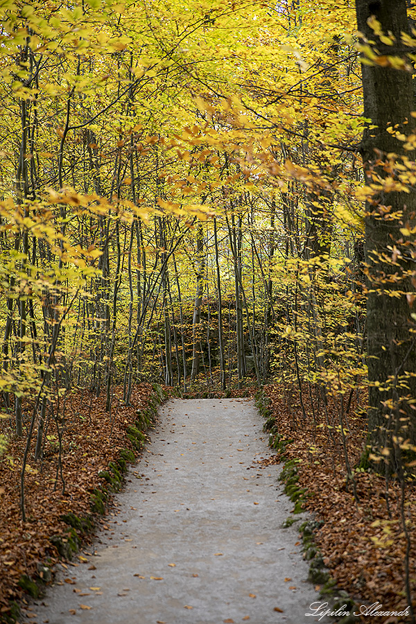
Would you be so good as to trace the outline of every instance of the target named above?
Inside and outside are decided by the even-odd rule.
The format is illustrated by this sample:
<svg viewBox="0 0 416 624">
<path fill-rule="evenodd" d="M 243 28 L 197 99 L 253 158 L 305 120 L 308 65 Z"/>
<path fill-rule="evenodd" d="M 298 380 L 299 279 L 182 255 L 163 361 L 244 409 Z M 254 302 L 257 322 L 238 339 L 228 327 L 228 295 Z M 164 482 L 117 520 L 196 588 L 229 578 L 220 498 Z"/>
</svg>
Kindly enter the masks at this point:
<svg viewBox="0 0 416 624">
<path fill-rule="evenodd" d="M 24 397 L 43 422 L 74 384 L 108 409 L 115 381 L 127 402 L 142 379 L 355 387 L 354 8 L 2 7 L 1 384 L 17 435 Z"/>
</svg>

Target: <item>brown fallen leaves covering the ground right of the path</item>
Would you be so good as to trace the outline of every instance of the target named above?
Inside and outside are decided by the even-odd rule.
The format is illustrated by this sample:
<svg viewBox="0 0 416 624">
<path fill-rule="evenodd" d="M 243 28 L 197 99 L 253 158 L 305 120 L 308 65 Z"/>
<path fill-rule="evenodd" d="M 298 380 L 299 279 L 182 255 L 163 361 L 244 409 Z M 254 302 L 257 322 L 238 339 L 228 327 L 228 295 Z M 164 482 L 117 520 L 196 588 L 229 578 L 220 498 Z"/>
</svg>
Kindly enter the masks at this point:
<svg viewBox="0 0 416 624">
<path fill-rule="evenodd" d="M 315 534 L 324 562 L 338 587 L 348 591 L 358 605 L 381 603 L 379 611 L 402 611 L 408 606 L 405 593 L 404 560 L 406 539 L 401 521 L 401 489 L 370 472 L 354 471 L 356 503 L 352 484 L 347 485 L 345 454 L 340 435 L 338 406 L 329 399 L 327 414 L 317 408 L 315 396 L 303 393 L 306 419 L 295 392 L 288 394 L 279 385 L 270 385 L 266 394 L 272 399 L 272 414 L 280 435 L 293 440 L 285 450 L 288 459 L 298 458 L 300 487 L 312 496 L 306 508 L 324 524 Z M 313 422 L 311 399 L 315 401 Z M 356 412 L 359 410 L 356 410 Z M 309 416 L 310 415 L 310 416 Z M 327 425 L 333 428 L 328 428 Z M 365 415 L 347 415 L 347 456 L 354 468 L 365 449 L 367 437 Z M 390 508 L 390 514 L 388 511 Z M 416 489 L 406 488 L 405 514 L 412 547 L 410 551 L 410 588 L 416 609 Z M 383 624 L 406 621 L 400 616 L 363 616 L 363 622 Z"/>
</svg>

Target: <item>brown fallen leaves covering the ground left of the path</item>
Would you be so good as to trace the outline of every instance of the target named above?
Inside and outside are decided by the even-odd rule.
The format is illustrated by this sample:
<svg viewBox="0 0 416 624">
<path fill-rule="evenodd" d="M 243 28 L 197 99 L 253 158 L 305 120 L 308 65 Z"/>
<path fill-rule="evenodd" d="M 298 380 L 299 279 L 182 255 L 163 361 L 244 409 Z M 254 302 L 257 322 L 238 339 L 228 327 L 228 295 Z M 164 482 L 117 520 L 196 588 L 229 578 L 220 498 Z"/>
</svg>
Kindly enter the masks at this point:
<svg viewBox="0 0 416 624">
<path fill-rule="evenodd" d="M 1 422 L 0 433 L 8 444 L 0 457 L 0 619 L 8 613 L 10 600 L 25 602 L 18 584 L 21 575 L 36 577 L 42 562 L 49 560 L 52 565 L 58 561 L 49 540 L 68 530 L 60 517 L 68 512 L 78 517 L 89 514 L 91 492 L 103 484 L 98 473 L 117 458 L 121 449 L 131 448 L 125 428 L 135 421 L 136 411 L 146 407 L 150 392 L 148 383 L 135 386 L 130 406 L 125 406 L 123 389 L 115 388 L 111 415 L 105 412 L 103 396 L 96 397 L 87 390 L 69 392 L 62 435 L 64 488 L 60 474 L 57 478 L 58 437 L 51 419 L 42 461 L 33 462 L 31 449 L 25 472 L 26 522 L 21 521 L 19 507 L 26 435 L 18 440 L 9 422 Z M 27 426 L 28 422 L 26 431 Z"/>
</svg>

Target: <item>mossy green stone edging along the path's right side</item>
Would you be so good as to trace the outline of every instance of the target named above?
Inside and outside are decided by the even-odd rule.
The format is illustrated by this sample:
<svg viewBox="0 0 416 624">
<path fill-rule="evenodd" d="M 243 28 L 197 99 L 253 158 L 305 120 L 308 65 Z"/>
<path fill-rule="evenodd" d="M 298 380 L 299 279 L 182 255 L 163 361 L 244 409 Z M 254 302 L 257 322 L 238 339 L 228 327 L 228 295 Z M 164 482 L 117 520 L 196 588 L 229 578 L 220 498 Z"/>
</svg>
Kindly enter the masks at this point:
<svg viewBox="0 0 416 624">
<path fill-rule="evenodd" d="M 293 440 L 285 440 L 279 433 L 279 426 L 275 417 L 270 411 L 271 400 L 266 395 L 264 390 L 259 390 L 255 395 L 255 404 L 259 409 L 259 412 L 266 419 L 263 426 L 263 431 L 269 433 L 269 446 L 275 451 L 280 451 L 280 457 L 284 462 L 284 467 L 279 475 L 279 480 L 284 483 L 284 492 L 288 495 L 289 499 L 295 503 L 293 514 L 299 514 L 303 511 L 303 503 L 306 496 L 310 496 L 306 488 L 298 485 L 299 475 L 297 474 L 298 465 L 300 460 L 293 458 L 287 460 L 284 456 L 286 447 L 291 444 Z M 288 518 L 284 521 L 282 527 L 288 528 L 295 523 L 294 518 Z M 315 544 L 313 538 L 314 531 L 320 528 L 323 521 L 310 520 L 305 521 L 300 526 L 300 533 L 302 534 L 304 559 L 309 562 L 309 574 L 308 580 L 313 584 L 320 584 L 320 596 L 325 600 L 331 601 L 331 609 L 333 612 L 337 610 L 339 612 L 346 613 L 347 615 L 341 616 L 337 620 L 338 624 L 355 624 L 359 622 L 359 618 L 354 616 L 354 607 L 356 607 L 354 600 L 349 597 L 347 591 L 338 589 L 336 580 L 331 577 L 329 570 L 325 567 L 322 553 L 318 546 Z M 341 613 L 340 613 L 341 615 Z"/>
</svg>

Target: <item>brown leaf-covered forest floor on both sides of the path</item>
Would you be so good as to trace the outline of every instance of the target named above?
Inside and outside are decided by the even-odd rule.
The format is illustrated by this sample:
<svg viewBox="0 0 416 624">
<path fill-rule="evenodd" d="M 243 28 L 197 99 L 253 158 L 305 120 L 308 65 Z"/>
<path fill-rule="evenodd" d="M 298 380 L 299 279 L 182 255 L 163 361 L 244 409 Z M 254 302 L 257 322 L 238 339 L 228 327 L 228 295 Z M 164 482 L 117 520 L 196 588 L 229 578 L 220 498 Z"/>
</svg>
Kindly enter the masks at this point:
<svg viewBox="0 0 416 624">
<path fill-rule="evenodd" d="M 78 517 L 89 514 L 92 491 L 105 483 L 98 474 L 116 459 L 120 449 L 130 447 L 126 428 L 135 421 L 137 410 L 146 406 L 151 392 L 150 384 L 136 386 L 132 404 L 126 407 L 121 400 L 122 389 L 116 388 L 111 417 L 105 412 L 103 397 L 97 398 L 89 392 L 69 393 L 62 448 L 64 491 L 59 474 L 57 479 L 57 436 L 52 421 L 42 462 L 35 465 L 30 460 L 26 469 L 26 523 L 21 521 L 19 508 L 24 442 L 10 435 L 8 421 L 1 422 L 0 621 L 10 615 L 10 601 L 21 604 L 26 601 L 25 591 L 19 586 L 21 576 L 39 578 L 42 562 L 49 560 L 53 565 L 58 561 L 58 552 L 50 538 L 68 531 L 62 515 L 69 511 Z M 243 392 L 245 396 L 249 393 L 251 389 Z M 329 401 L 327 415 L 320 413 L 315 404 L 315 419 L 309 416 L 304 419 L 295 392 L 288 395 L 287 388 L 270 385 L 266 393 L 272 399 L 270 410 L 275 415 L 279 435 L 283 440 L 293 440 L 286 444 L 284 452 L 277 451 L 276 460 L 281 456 L 300 460 L 299 485 L 308 492 L 306 508 L 316 519 L 324 521 L 315 534 L 315 541 L 338 587 L 348 591 L 358 605 L 379 603 L 383 611 L 406 609 L 407 544 L 403 512 L 412 538 L 408 584 L 415 596 L 415 488 L 406 487 L 402 505 L 399 484 L 390 481 L 387 488 L 383 477 L 354 470 L 356 501 L 352 483 L 347 484 L 345 478 L 345 453 L 336 429 L 339 425 L 336 403 Z M 232 397 L 241 394 L 239 390 L 231 393 Z M 221 396 L 222 393 L 212 392 L 211 395 Z M 304 393 L 304 407 L 307 414 L 312 413 L 307 393 Z M 345 426 L 347 458 L 354 468 L 365 447 L 365 417 L 352 412 L 347 415 Z M 87 535 L 85 539 L 90 538 Z M 71 565 L 82 563 L 80 556 Z M 413 604 L 416 607 L 415 602 Z M 404 622 L 404 619 L 367 616 L 362 621 L 387 624 Z"/>
</svg>

